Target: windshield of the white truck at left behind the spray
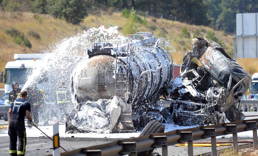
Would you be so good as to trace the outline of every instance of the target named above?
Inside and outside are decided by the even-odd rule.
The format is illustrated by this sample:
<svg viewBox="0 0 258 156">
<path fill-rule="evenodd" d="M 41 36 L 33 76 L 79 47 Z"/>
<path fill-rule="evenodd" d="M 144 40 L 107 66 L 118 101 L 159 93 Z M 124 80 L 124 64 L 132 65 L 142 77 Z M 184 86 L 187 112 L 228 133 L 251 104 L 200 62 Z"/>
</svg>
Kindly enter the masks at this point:
<svg viewBox="0 0 258 156">
<path fill-rule="evenodd" d="M 28 76 L 32 73 L 33 68 L 6 68 L 5 69 L 5 84 L 11 84 L 13 81 L 18 84 L 25 84 Z"/>
</svg>

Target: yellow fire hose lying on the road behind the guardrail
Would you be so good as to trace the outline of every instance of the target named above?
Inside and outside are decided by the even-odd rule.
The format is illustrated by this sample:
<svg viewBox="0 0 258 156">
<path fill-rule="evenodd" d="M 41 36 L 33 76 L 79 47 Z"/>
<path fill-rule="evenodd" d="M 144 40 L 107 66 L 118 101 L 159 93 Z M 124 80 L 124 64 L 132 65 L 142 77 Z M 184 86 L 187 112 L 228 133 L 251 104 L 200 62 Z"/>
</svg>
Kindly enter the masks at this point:
<svg viewBox="0 0 258 156">
<path fill-rule="evenodd" d="M 253 143 L 253 141 L 237 141 L 238 143 Z M 216 142 L 216 146 L 230 146 L 233 141 Z M 193 142 L 193 147 L 211 147 L 211 142 Z M 188 147 L 188 143 L 175 144 L 175 147 Z"/>
</svg>

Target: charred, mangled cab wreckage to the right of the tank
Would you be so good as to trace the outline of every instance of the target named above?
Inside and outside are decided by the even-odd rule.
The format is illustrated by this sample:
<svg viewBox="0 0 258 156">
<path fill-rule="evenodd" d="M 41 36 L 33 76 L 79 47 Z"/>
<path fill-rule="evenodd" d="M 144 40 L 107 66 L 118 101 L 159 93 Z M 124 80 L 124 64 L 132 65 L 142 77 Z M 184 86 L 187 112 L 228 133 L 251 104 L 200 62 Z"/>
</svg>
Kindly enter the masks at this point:
<svg viewBox="0 0 258 156">
<path fill-rule="evenodd" d="M 185 126 L 243 120 L 236 107 L 249 88 L 249 74 L 212 40 L 199 37 L 191 46 L 180 75 L 167 85 L 173 121 Z"/>
</svg>

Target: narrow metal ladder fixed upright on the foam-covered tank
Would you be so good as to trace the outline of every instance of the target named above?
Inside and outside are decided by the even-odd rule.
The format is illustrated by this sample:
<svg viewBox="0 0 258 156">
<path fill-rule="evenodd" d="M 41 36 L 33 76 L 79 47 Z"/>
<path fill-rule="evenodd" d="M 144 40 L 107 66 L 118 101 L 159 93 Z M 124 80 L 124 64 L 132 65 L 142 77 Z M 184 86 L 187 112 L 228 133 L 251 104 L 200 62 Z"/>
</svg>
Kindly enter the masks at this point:
<svg viewBox="0 0 258 156">
<path fill-rule="evenodd" d="M 119 59 L 119 56 L 118 56 L 118 45 L 117 44 L 117 48 L 116 48 L 116 60 L 115 60 L 115 96 L 118 95 L 118 92 L 120 90 L 124 90 L 125 91 L 125 96 L 124 97 L 119 97 L 121 98 L 122 100 L 124 100 L 125 104 L 127 104 L 127 98 L 128 98 L 128 86 L 129 86 L 129 65 L 130 65 L 130 58 L 131 58 L 131 51 L 132 51 L 132 46 L 131 44 L 128 44 L 127 46 L 127 52 L 121 52 L 121 54 L 126 54 L 126 64 L 123 64 L 123 65 L 119 65 L 117 64 L 117 60 Z M 129 53 L 129 56 L 128 56 L 128 52 L 130 50 L 130 53 Z M 117 72 L 117 68 L 120 68 L 120 67 L 126 67 L 126 72 L 123 72 L 123 71 L 120 71 L 120 72 Z M 120 68 L 121 69 L 121 68 Z M 125 77 L 125 80 L 121 81 L 121 80 L 118 80 L 118 75 L 120 74 L 123 74 Z M 124 82 L 126 84 L 126 88 L 118 88 L 118 84 L 121 83 L 121 82 Z"/>
</svg>

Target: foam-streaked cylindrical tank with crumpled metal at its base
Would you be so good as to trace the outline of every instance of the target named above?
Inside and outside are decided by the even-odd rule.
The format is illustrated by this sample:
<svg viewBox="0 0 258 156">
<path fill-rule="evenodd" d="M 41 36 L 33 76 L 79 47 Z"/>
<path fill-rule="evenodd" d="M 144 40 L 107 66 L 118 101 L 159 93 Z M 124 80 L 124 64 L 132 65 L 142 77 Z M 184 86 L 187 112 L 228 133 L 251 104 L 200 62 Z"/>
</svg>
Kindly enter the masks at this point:
<svg viewBox="0 0 258 156">
<path fill-rule="evenodd" d="M 78 105 L 67 116 L 67 131 L 97 131 L 94 129 L 99 129 L 99 123 L 94 122 L 98 122 L 98 117 L 107 117 L 107 121 L 103 121 L 106 124 L 97 132 L 107 129 L 132 132 L 148 122 L 146 112 L 173 79 L 173 61 L 169 55 L 175 48 L 151 33 L 125 38 L 130 42 L 114 39 L 94 43 L 88 49 L 88 57 L 73 71 L 71 87 Z M 86 109 L 82 115 L 80 112 Z M 95 112 L 90 114 L 89 109 Z"/>
</svg>

